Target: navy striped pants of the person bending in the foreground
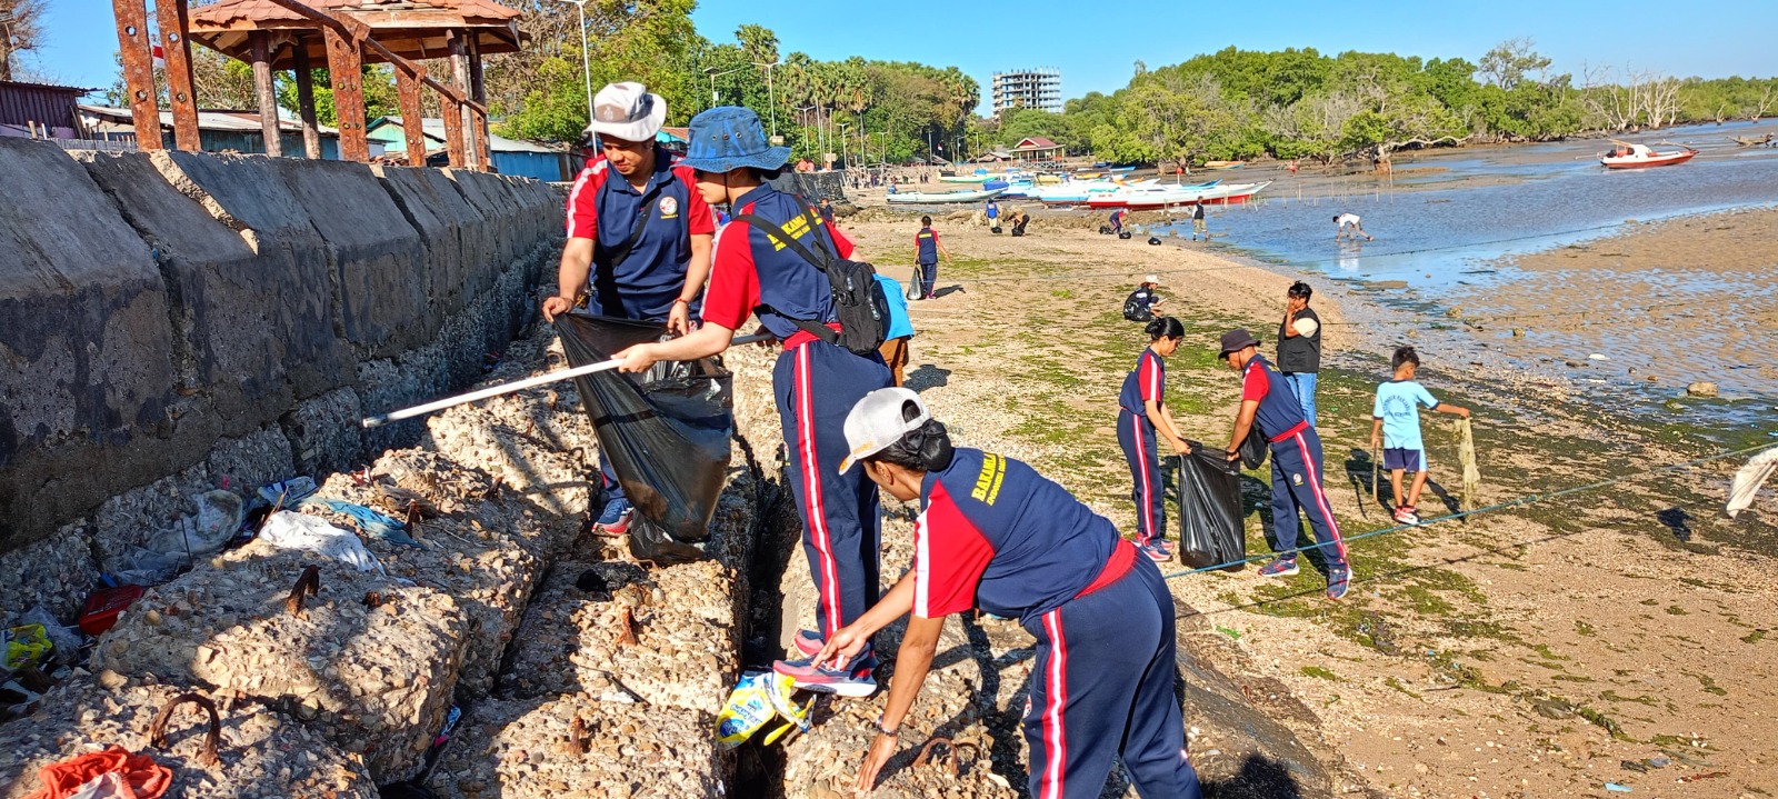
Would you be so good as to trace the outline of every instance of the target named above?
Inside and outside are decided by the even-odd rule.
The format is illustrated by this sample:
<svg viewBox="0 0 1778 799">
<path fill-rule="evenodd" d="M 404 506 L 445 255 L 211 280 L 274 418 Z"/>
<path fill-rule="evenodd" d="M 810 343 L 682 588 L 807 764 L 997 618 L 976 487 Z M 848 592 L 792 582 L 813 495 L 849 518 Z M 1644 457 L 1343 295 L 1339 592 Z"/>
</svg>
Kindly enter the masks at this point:
<svg viewBox="0 0 1778 799">
<path fill-rule="evenodd" d="M 1136 557 L 1117 582 L 1024 628 L 1037 635 L 1031 799 L 1097 799 L 1115 756 L 1143 799 L 1202 797 L 1173 698 L 1173 598 L 1154 561 Z"/>
</svg>

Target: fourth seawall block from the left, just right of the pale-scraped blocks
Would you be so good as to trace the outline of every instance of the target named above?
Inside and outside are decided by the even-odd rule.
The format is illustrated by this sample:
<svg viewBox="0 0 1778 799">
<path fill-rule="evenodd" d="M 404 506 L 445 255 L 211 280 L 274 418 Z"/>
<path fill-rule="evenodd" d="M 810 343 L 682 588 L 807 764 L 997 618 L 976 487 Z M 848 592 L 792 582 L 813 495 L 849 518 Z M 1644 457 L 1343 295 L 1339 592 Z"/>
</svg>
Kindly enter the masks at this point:
<svg viewBox="0 0 1778 799">
<path fill-rule="evenodd" d="M 388 358 L 437 333 L 420 231 L 364 164 L 272 158 L 329 244 L 340 326 L 363 358 Z"/>
</svg>

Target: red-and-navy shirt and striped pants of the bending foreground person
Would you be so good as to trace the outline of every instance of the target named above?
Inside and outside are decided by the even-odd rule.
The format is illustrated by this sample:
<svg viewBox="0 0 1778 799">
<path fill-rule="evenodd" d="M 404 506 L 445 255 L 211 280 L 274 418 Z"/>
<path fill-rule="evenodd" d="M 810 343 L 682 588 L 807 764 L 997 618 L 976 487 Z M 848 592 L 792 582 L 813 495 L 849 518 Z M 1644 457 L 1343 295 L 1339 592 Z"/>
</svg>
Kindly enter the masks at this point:
<svg viewBox="0 0 1778 799">
<path fill-rule="evenodd" d="M 1200 797 L 1173 699 L 1173 600 L 1152 561 L 1031 466 L 974 448 L 921 482 L 914 614 L 1017 617 L 1037 637 L 1033 799 L 1095 799 L 1122 758 L 1145 797 Z"/>
</svg>

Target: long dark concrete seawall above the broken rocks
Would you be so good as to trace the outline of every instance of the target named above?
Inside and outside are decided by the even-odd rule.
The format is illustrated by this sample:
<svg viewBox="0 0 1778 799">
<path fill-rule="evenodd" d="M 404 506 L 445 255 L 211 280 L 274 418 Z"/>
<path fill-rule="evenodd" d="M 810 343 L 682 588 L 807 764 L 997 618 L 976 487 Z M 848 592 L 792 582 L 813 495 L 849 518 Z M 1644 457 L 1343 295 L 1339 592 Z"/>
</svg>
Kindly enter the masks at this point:
<svg viewBox="0 0 1778 799">
<path fill-rule="evenodd" d="M 546 185 L 0 139 L 0 609 L 66 616 L 188 496 L 348 468 L 471 383 L 560 246 Z"/>
</svg>

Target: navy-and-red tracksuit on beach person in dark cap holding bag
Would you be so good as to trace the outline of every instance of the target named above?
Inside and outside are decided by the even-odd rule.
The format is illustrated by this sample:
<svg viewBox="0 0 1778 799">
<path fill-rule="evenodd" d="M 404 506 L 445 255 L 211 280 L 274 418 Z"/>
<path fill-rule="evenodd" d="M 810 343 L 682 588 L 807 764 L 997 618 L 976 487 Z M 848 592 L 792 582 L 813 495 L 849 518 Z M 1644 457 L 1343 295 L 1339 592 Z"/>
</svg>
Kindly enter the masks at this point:
<svg viewBox="0 0 1778 799">
<path fill-rule="evenodd" d="M 1303 418 L 1291 384 L 1277 367 L 1253 356 L 1241 368 L 1241 399 L 1259 400 L 1253 424 L 1271 441 L 1271 527 L 1278 534 L 1278 555 L 1296 557 L 1296 534 L 1301 530 L 1296 511 L 1301 509 L 1321 557 L 1344 566 L 1346 541 L 1321 477 L 1321 436 Z"/>
</svg>

